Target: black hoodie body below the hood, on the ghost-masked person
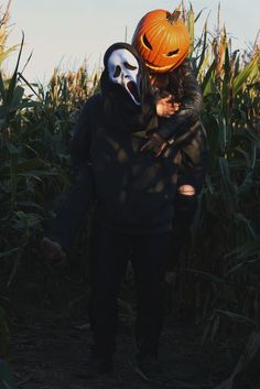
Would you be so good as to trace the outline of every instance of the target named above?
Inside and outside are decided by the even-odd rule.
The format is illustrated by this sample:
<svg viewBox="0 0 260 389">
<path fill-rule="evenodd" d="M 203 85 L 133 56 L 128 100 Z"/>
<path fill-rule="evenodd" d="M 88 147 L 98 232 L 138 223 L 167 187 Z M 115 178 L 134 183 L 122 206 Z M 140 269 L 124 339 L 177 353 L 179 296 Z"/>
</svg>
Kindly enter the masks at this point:
<svg viewBox="0 0 260 389">
<path fill-rule="evenodd" d="M 113 126 L 104 102 L 101 95 L 88 99 L 72 149 L 78 171 L 80 164 L 89 165 L 86 180 L 89 192 L 95 192 L 97 221 L 137 235 L 171 229 L 176 166 L 140 151 L 153 121 L 145 130 Z"/>
</svg>

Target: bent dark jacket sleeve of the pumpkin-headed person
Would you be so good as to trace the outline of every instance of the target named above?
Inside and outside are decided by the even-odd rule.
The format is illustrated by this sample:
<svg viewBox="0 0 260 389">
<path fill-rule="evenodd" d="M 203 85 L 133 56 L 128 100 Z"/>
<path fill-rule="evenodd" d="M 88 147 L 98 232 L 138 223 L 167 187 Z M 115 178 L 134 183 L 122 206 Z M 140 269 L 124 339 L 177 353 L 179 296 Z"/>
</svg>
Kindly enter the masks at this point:
<svg viewBox="0 0 260 389">
<path fill-rule="evenodd" d="M 178 69 L 183 93 L 180 100 L 181 108 L 169 119 L 160 120 L 158 133 L 165 140 L 175 140 L 189 131 L 199 118 L 203 96 L 191 64 L 185 61 Z M 174 90 L 171 90 L 174 95 Z"/>
</svg>

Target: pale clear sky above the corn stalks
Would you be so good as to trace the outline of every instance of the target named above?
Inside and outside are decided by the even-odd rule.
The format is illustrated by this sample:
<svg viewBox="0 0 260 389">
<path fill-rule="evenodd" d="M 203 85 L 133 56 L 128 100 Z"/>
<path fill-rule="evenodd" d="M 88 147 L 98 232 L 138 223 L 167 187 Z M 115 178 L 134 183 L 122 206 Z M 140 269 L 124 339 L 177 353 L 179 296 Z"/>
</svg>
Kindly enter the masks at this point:
<svg viewBox="0 0 260 389">
<path fill-rule="evenodd" d="M 100 68 L 107 47 L 119 41 L 131 42 L 139 20 L 149 11 L 173 11 L 178 2 L 169 0 L 12 0 L 8 45 L 21 42 L 25 45 L 21 68 L 29 55 L 32 57 L 23 75 L 31 83 L 47 83 L 54 67 L 75 71 L 87 61 L 89 75 Z M 0 1 L 4 10 L 7 0 Z M 185 1 L 189 7 L 189 1 Z M 199 35 L 208 15 L 213 31 L 217 24 L 218 0 L 193 0 L 195 15 L 203 10 L 195 25 Z M 234 48 L 246 48 L 253 43 L 260 28 L 259 0 L 220 0 L 220 25 L 226 25 L 232 37 Z M 12 72 L 17 53 L 6 62 Z"/>
</svg>

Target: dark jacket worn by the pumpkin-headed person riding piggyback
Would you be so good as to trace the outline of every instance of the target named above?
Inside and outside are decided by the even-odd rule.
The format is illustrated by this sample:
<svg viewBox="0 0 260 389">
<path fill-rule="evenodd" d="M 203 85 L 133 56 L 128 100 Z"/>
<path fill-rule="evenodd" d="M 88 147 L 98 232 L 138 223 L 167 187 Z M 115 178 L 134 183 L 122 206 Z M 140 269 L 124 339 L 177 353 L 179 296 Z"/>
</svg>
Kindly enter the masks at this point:
<svg viewBox="0 0 260 389">
<path fill-rule="evenodd" d="M 207 134 L 201 121 L 202 91 L 188 60 L 163 76 L 167 85 L 158 90 L 159 97 L 171 94 L 181 107 L 170 118 L 160 118 L 158 133 L 169 141 L 166 154 L 178 161 L 178 185 L 193 185 L 198 194 L 209 164 Z"/>
</svg>

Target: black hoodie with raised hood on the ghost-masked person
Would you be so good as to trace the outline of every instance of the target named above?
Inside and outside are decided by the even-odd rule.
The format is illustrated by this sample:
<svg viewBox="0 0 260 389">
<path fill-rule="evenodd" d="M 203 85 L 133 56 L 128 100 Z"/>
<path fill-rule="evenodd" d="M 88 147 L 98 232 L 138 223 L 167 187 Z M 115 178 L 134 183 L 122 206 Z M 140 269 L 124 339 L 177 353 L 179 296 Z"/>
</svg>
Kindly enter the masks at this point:
<svg viewBox="0 0 260 389">
<path fill-rule="evenodd" d="M 141 68 L 141 105 L 108 77 L 107 61 L 127 48 Z M 122 233 L 156 234 L 171 229 L 176 165 L 140 149 L 158 126 L 149 76 L 136 50 L 127 43 L 111 45 L 104 57 L 101 93 L 90 97 L 75 130 L 72 163 L 83 166 L 89 191 L 96 196 L 96 219 Z M 94 181 L 91 184 L 91 174 Z"/>
</svg>

